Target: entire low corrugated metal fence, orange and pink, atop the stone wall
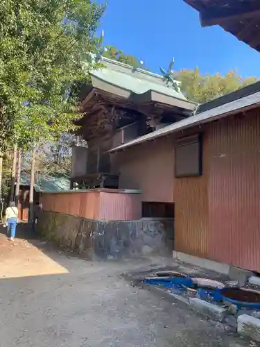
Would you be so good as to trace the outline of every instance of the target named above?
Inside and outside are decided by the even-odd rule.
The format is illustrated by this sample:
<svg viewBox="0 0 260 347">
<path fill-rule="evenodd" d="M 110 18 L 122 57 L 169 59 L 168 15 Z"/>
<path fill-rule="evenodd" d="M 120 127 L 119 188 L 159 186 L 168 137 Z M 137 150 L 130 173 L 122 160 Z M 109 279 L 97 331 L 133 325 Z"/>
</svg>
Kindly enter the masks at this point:
<svg viewBox="0 0 260 347">
<path fill-rule="evenodd" d="M 86 219 L 127 221 L 141 218 L 140 194 L 79 191 L 42 194 L 44 210 Z"/>
</svg>

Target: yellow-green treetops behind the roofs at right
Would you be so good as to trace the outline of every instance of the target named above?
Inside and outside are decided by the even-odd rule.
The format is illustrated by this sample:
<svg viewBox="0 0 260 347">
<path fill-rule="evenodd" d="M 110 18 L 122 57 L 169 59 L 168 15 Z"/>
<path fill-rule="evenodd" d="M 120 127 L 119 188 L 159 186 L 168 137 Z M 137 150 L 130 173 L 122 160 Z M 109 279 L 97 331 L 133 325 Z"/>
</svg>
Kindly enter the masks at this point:
<svg viewBox="0 0 260 347">
<path fill-rule="evenodd" d="M 202 76 L 198 67 L 194 70 L 175 71 L 175 78 L 181 81 L 181 90 L 187 99 L 198 103 L 205 103 L 258 81 L 256 77 L 242 78 L 235 70 L 227 72 L 224 76 Z"/>
</svg>

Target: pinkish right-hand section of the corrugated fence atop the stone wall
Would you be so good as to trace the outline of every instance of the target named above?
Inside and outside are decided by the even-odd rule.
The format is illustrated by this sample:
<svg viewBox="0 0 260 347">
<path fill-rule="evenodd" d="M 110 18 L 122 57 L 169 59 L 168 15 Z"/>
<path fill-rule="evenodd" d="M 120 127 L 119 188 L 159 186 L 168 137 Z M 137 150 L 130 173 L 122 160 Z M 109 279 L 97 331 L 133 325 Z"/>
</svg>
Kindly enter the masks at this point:
<svg viewBox="0 0 260 347">
<path fill-rule="evenodd" d="M 140 194 L 101 192 L 99 219 L 131 221 L 141 218 Z"/>
</svg>

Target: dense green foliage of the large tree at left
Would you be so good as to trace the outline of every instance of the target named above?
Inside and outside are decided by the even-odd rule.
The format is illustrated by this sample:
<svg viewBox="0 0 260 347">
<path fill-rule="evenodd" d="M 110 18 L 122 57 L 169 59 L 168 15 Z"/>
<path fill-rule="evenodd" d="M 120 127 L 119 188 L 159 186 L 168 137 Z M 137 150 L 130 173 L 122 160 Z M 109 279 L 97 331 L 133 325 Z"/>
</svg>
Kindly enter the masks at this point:
<svg viewBox="0 0 260 347">
<path fill-rule="evenodd" d="M 86 83 L 104 6 L 90 0 L 3 0 L 0 141 L 29 146 L 73 128 L 76 85 Z M 88 61 L 87 71 L 81 62 Z M 73 92 L 71 93 L 71 91 Z"/>
</svg>

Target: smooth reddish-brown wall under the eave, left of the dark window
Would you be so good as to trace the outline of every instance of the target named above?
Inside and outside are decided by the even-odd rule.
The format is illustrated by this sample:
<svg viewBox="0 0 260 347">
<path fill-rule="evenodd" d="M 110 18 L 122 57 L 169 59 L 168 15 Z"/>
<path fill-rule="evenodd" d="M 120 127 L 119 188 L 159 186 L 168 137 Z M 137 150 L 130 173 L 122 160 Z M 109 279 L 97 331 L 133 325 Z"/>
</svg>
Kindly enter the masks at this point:
<svg viewBox="0 0 260 347">
<path fill-rule="evenodd" d="M 112 154 L 112 169 L 120 171 L 119 188 L 141 189 L 141 200 L 173 202 L 173 139 L 134 146 Z"/>
</svg>

